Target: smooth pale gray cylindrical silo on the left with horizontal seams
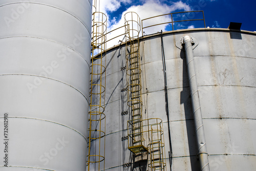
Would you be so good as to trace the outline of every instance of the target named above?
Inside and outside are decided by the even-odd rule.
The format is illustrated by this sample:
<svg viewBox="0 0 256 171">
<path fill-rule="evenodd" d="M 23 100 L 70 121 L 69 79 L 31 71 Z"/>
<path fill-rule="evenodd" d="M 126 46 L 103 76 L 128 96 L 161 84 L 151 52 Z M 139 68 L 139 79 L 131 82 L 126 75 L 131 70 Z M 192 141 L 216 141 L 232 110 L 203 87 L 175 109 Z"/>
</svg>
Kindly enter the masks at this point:
<svg viewBox="0 0 256 171">
<path fill-rule="evenodd" d="M 91 8 L 0 2 L 1 170 L 86 170 Z"/>
</svg>

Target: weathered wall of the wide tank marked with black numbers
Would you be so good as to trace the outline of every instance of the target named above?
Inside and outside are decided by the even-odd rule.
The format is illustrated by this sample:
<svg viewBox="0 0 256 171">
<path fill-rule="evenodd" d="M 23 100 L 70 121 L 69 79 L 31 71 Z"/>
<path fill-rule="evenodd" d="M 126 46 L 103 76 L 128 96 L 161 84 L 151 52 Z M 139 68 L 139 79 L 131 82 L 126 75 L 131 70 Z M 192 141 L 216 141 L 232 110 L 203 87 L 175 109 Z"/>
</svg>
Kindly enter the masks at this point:
<svg viewBox="0 0 256 171">
<path fill-rule="evenodd" d="M 172 170 L 200 170 L 185 53 L 176 47 L 185 35 L 199 42 L 194 49 L 197 80 L 210 170 L 254 170 L 256 167 L 256 34 L 229 29 L 189 29 L 166 32 L 163 46 L 167 70 Z M 166 158 L 169 141 L 165 112 L 161 35 L 140 41 L 143 79 L 143 118 L 164 122 Z M 146 170 L 134 163 L 127 141 L 125 46 L 107 51 L 106 158 L 108 170 Z M 130 112 L 130 111 L 129 111 Z M 166 159 L 170 170 L 169 160 Z M 125 165 L 126 166 L 126 165 Z"/>
</svg>

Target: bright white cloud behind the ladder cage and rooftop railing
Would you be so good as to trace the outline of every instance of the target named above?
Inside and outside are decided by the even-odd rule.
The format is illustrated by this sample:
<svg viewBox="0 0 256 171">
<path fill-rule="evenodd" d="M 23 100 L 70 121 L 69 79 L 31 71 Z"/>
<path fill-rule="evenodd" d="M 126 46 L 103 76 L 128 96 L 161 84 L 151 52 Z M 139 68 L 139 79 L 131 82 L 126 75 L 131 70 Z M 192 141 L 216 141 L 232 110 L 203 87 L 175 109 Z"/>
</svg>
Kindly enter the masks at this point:
<svg viewBox="0 0 256 171">
<path fill-rule="evenodd" d="M 112 4 L 110 4 L 110 2 L 112 2 Z M 113 2 L 116 2 L 116 4 L 113 4 Z M 120 0 L 120 1 L 104 0 L 104 4 L 107 5 L 104 10 L 106 12 L 111 11 L 111 10 L 112 11 L 117 10 L 120 7 L 120 3 L 131 3 L 131 0 Z M 161 4 L 160 1 L 158 1 L 158 0 L 147 0 L 147 1 L 144 1 L 143 5 L 131 6 L 130 8 L 128 8 L 126 11 L 124 11 L 122 13 L 122 17 L 119 21 L 117 21 L 116 18 L 113 18 L 112 20 L 110 20 L 108 22 L 108 24 L 109 24 L 108 31 L 111 31 L 111 30 L 114 30 L 121 26 L 124 26 L 124 14 L 127 12 L 136 12 L 141 19 L 144 19 L 144 18 L 148 18 L 148 17 L 152 17 L 152 16 L 171 13 L 175 10 L 190 11 L 191 7 L 188 4 L 183 3 L 182 1 L 173 3 L 172 5 L 168 6 L 166 4 Z M 145 20 L 143 22 L 143 27 L 160 24 L 160 23 L 171 22 L 171 21 L 172 21 L 171 17 L 169 15 L 165 15 L 165 16 L 161 16 L 158 18 L 152 18 L 152 19 Z M 167 25 L 168 24 L 155 26 L 155 27 L 151 27 L 148 29 L 144 29 L 143 31 L 145 31 L 146 34 L 156 33 L 161 30 L 165 31 L 165 27 Z M 116 31 L 112 32 L 111 34 L 108 34 L 107 37 L 108 37 L 108 39 L 110 39 L 110 38 L 115 37 L 116 35 L 121 35 L 123 33 L 124 33 L 124 28 L 116 30 Z M 110 48 L 110 47 L 113 47 L 113 45 L 117 45 L 118 41 L 121 40 L 122 38 L 123 38 L 123 35 L 112 40 L 112 41 L 109 41 L 107 44 L 107 47 Z"/>
</svg>

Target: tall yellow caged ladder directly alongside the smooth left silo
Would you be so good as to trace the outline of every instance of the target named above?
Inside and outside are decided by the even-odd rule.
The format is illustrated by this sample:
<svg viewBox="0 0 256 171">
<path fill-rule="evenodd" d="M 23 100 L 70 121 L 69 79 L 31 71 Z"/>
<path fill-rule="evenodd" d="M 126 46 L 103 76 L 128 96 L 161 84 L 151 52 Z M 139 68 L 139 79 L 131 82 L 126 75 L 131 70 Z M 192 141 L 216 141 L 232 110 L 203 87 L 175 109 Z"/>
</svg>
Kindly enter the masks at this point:
<svg viewBox="0 0 256 171">
<path fill-rule="evenodd" d="M 89 112 L 89 137 L 87 158 L 88 170 L 104 170 L 105 168 L 105 76 L 106 60 L 103 62 L 106 49 L 106 15 L 97 12 L 94 1 L 92 20 L 92 58 L 91 88 Z"/>
</svg>

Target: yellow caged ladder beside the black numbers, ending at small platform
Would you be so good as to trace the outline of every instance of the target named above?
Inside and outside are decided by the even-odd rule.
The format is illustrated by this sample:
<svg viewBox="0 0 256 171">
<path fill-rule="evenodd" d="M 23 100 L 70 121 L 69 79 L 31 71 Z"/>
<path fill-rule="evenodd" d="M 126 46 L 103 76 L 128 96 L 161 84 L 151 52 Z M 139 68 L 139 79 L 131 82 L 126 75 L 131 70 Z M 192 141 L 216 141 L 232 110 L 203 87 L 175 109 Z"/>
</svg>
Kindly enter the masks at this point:
<svg viewBox="0 0 256 171">
<path fill-rule="evenodd" d="M 140 18 L 135 12 L 124 14 L 126 42 L 127 105 L 131 107 L 131 120 L 127 122 L 128 148 L 133 153 L 147 152 L 143 145 L 142 96 L 139 32 Z"/>
</svg>

